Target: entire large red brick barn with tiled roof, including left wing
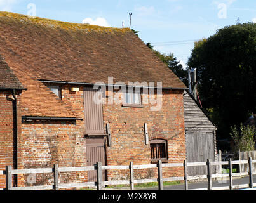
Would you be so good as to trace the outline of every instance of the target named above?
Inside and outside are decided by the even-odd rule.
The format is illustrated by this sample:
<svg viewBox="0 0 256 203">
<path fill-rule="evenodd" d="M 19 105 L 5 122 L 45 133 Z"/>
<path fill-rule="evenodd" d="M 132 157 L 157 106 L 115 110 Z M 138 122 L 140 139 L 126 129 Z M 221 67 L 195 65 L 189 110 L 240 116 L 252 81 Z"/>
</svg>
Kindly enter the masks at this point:
<svg viewBox="0 0 256 203">
<path fill-rule="evenodd" d="M 91 166 L 97 161 L 103 165 L 151 164 L 159 159 L 172 163 L 186 158 L 186 87 L 130 29 L 0 12 L 0 45 L 4 57 L 0 84 L 9 84 L 5 69 L 16 82 L 8 89 L 0 86 L 0 119 L 4 119 L 0 124 L 0 169 L 9 164 L 22 169 L 53 167 L 55 163 L 59 167 Z M 93 84 L 99 81 L 106 84 L 100 96 L 107 103 L 95 102 L 100 91 Z M 154 88 L 149 88 L 150 82 Z M 156 87 L 157 82 L 162 82 L 162 88 Z M 13 140 L 13 101 L 8 99 L 13 88 L 17 143 Z M 122 88 L 131 91 L 125 93 Z M 158 103 L 144 101 L 152 95 L 159 96 L 158 110 L 152 110 Z M 111 103 L 111 96 L 123 96 L 123 100 Z M 183 174 L 183 168 L 163 172 L 177 176 Z M 149 177 L 155 173 L 142 170 L 136 174 Z M 128 178 L 128 173 L 118 171 L 104 175 L 109 180 Z M 91 181 L 94 176 L 62 174 L 61 181 Z M 4 187 L 3 177 L 0 187 Z M 48 184 L 48 178 L 38 176 L 36 184 Z M 19 185 L 26 181 L 19 176 Z"/>
</svg>

